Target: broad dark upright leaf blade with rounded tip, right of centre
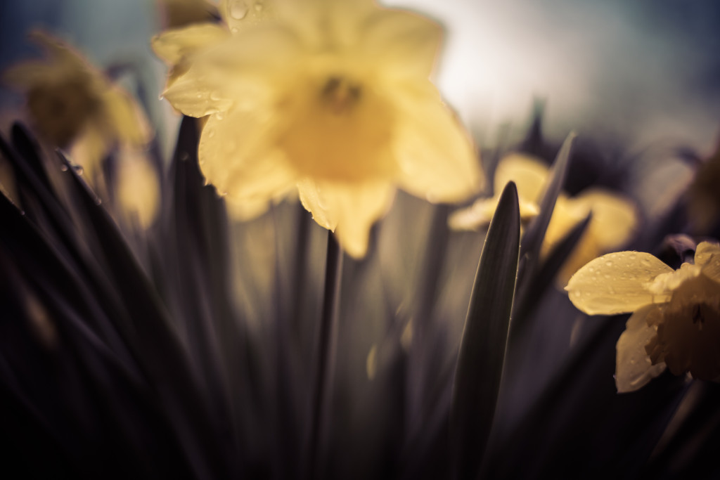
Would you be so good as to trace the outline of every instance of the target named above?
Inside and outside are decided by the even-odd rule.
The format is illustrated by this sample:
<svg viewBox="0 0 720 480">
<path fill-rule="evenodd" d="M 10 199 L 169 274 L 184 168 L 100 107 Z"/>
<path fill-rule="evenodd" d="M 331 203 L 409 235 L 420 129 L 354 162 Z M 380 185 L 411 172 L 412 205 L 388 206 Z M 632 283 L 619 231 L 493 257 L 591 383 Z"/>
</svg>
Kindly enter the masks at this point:
<svg viewBox="0 0 720 480">
<path fill-rule="evenodd" d="M 450 415 L 457 479 L 477 476 L 490 435 L 505 361 L 519 243 L 518 192 L 510 182 L 485 238 L 458 354 Z"/>
</svg>

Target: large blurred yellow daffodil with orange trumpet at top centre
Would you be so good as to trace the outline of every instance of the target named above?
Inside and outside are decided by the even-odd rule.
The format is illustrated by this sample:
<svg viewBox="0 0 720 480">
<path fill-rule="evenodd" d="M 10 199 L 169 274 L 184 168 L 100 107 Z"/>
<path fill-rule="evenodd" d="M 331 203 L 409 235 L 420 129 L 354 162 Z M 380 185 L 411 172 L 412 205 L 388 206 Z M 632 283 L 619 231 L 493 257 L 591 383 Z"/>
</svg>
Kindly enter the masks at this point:
<svg viewBox="0 0 720 480">
<path fill-rule="evenodd" d="M 369 0 L 220 4 L 223 25 L 172 30 L 164 96 L 210 115 L 199 142 L 208 182 L 256 211 L 292 191 L 350 255 L 396 187 L 460 201 L 482 184 L 472 142 L 429 77 L 442 31 Z"/>
</svg>

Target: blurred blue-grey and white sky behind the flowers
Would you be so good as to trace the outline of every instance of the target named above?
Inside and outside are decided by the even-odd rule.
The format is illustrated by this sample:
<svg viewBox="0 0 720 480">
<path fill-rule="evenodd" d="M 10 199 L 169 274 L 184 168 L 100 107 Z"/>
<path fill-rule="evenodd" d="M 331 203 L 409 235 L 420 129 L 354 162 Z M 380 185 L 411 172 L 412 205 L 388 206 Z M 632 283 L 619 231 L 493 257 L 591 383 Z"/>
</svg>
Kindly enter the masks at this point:
<svg viewBox="0 0 720 480">
<path fill-rule="evenodd" d="M 720 3 L 715 0 L 391 0 L 439 19 L 448 32 L 438 84 L 489 142 L 547 101 L 546 132 L 592 131 L 711 153 L 720 131 Z M 9 0 L 0 5 L 0 70 L 38 55 L 43 27 L 104 68 L 130 65 L 153 123 L 164 68 L 148 38 L 163 16 L 152 0 Z M 132 85 L 135 83 L 135 85 Z M 2 112 L 19 96 L 3 89 Z M 4 115 L 5 117 L 6 115 Z M 6 124 L 6 120 L 4 121 Z M 167 134 L 163 134 L 167 135 Z M 170 136 L 173 136 L 174 133 Z"/>
</svg>

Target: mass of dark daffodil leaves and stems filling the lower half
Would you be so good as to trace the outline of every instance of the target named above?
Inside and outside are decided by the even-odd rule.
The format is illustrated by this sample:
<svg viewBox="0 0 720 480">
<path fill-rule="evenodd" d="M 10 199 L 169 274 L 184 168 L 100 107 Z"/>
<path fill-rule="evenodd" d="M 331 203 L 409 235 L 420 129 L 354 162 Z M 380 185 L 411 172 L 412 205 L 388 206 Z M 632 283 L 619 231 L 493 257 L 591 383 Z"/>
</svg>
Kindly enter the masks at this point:
<svg viewBox="0 0 720 480">
<path fill-rule="evenodd" d="M 11 140 L 0 148 L 20 207 L 0 196 L 0 438 L 6 468 L 26 478 L 720 473 L 718 386 L 665 374 L 616 394 L 626 317 L 593 320 L 552 366 L 536 361 L 577 315 L 549 285 L 588 219 L 539 262 L 572 137 L 522 242 L 509 184 L 484 241 L 451 234 L 447 207 L 423 204 L 413 222 L 427 221 L 405 234 L 392 235 L 405 224 L 391 213 L 362 261 L 343 259 L 297 204 L 229 225 L 199 172 L 193 119 L 146 233 L 118 227 L 61 153 L 44 158 L 19 125 Z M 264 289 L 255 252 L 230 251 L 267 222 Z M 416 270 L 393 280 L 403 261 Z M 366 376 L 351 358 L 372 343 L 371 317 L 383 332 Z"/>
</svg>

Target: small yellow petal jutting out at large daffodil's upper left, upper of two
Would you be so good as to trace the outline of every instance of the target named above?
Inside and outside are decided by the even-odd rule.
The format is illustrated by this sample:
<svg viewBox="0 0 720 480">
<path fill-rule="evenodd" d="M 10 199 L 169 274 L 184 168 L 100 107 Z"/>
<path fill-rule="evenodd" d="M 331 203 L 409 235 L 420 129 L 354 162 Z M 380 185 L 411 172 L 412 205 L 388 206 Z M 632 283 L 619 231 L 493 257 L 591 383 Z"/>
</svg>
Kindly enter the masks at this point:
<svg viewBox="0 0 720 480">
<path fill-rule="evenodd" d="M 189 27 L 167 30 L 153 37 L 150 45 L 158 57 L 170 65 L 180 63 L 186 56 L 216 45 L 230 36 L 230 32 L 217 24 L 194 24 Z"/>
</svg>

